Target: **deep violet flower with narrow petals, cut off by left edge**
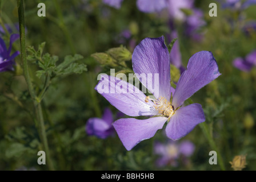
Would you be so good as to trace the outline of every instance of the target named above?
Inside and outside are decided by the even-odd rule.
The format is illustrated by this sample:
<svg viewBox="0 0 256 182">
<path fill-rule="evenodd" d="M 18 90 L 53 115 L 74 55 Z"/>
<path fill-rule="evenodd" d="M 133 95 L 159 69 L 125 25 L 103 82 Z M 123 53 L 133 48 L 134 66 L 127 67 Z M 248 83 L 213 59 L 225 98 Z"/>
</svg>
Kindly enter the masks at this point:
<svg viewBox="0 0 256 182">
<path fill-rule="evenodd" d="M 13 42 L 19 38 L 19 34 L 12 34 L 10 36 L 9 48 L 6 48 L 5 42 L 0 38 L 0 72 L 13 71 L 13 65 L 15 64 L 14 57 L 19 55 L 19 51 L 11 53 L 11 46 Z"/>
</svg>

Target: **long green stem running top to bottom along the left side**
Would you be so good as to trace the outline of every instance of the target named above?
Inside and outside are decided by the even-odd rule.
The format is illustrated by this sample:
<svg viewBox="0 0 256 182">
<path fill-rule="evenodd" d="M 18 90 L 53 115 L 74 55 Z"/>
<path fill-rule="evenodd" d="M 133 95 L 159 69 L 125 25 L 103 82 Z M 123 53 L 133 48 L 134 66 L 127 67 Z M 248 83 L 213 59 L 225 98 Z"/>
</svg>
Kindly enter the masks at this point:
<svg viewBox="0 0 256 182">
<path fill-rule="evenodd" d="M 35 114 L 37 116 L 37 126 L 38 126 L 38 133 L 40 139 L 43 144 L 43 150 L 46 152 L 46 160 L 47 165 L 50 170 L 54 170 L 53 164 L 50 159 L 50 152 L 45 132 L 45 123 L 43 121 L 43 114 L 42 114 L 42 107 L 41 103 L 37 101 L 37 96 L 35 94 L 35 90 L 33 88 L 33 84 L 30 79 L 29 75 L 29 67 L 27 64 L 27 56 L 26 56 L 26 43 L 25 43 L 25 18 L 24 18 L 24 7 L 23 7 L 23 0 L 17 0 L 18 6 L 18 15 L 19 15 L 19 36 L 20 36 L 20 43 L 21 43 L 21 59 L 22 59 L 22 66 L 24 76 L 27 82 L 27 88 L 29 89 L 30 96 L 33 100 Z"/>
</svg>

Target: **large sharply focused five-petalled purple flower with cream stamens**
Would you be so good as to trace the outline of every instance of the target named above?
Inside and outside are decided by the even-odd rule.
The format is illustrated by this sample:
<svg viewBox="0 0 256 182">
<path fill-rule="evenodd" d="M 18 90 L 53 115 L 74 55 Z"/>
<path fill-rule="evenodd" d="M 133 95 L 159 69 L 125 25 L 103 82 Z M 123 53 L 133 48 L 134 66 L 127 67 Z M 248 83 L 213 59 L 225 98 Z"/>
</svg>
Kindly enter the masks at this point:
<svg viewBox="0 0 256 182">
<path fill-rule="evenodd" d="M 113 123 L 127 150 L 131 150 L 142 140 L 153 137 L 166 121 L 169 121 L 166 135 L 173 140 L 184 137 L 198 123 L 205 121 L 200 104 L 183 106 L 183 103 L 221 75 L 211 52 L 197 52 L 189 59 L 187 70 L 179 78 L 174 93 L 170 85 L 170 56 L 163 36 L 142 40 L 134 49 L 132 63 L 133 71 L 141 77 L 141 83 L 153 93 L 155 99 L 149 98 L 134 85 L 113 76 L 101 75 L 101 80 L 95 87 L 110 104 L 126 115 L 155 116 L 149 119 L 123 118 Z M 155 74 L 159 77 L 159 82 L 150 79 Z"/>
</svg>

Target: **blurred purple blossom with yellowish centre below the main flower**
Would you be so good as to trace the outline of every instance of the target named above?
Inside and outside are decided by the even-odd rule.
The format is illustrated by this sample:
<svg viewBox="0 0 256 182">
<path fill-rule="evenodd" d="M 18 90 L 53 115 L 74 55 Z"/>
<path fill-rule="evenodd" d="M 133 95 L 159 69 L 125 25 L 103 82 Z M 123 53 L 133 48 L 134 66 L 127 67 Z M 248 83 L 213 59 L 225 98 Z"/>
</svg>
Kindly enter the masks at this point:
<svg viewBox="0 0 256 182">
<path fill-rule="evenodd" d="M 195 146 L 189 140 L 185 140 L 181 143 L 169 141 L 165 144 L 155 142 L 154 153 L 160 157 L 157 159 L 157 166 L 173 166 L 177 167 L 177 160 L 181 155 L 188 158 L 194 153 Z"/>
</svg>

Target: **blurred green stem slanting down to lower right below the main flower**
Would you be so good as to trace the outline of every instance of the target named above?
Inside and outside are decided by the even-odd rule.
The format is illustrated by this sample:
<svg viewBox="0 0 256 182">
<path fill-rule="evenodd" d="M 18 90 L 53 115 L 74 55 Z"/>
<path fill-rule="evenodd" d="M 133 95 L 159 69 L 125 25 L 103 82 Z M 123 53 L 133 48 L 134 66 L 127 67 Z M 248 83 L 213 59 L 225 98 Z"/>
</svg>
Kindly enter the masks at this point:
<svg viewBox="0 0 256 182">
<path fill-rule="evenodd" d="M 189 101 L 189 104 L 193 104 L 194 102 L 191 100 L 191 98 L 189 98 L 187 101 Z M 217 152 L 217 160 L 219 163 L 219 166 L 221 167 L 222 171 L 225 171 L 225 165 L 222 159 L 221 154 L 219 153 L 219 149 L 217 147 L 217 145 L 215 144 L 214 140 L 213 140 L 213 136 L 210 133 L 209 127 L 207 126 L 206 122 L 202 122 L 199 124 L 199 126 L 201 127 L 203 134 L 205 134 L 205 137 L 207 138 L 210 147 Z"/>
</svg>

